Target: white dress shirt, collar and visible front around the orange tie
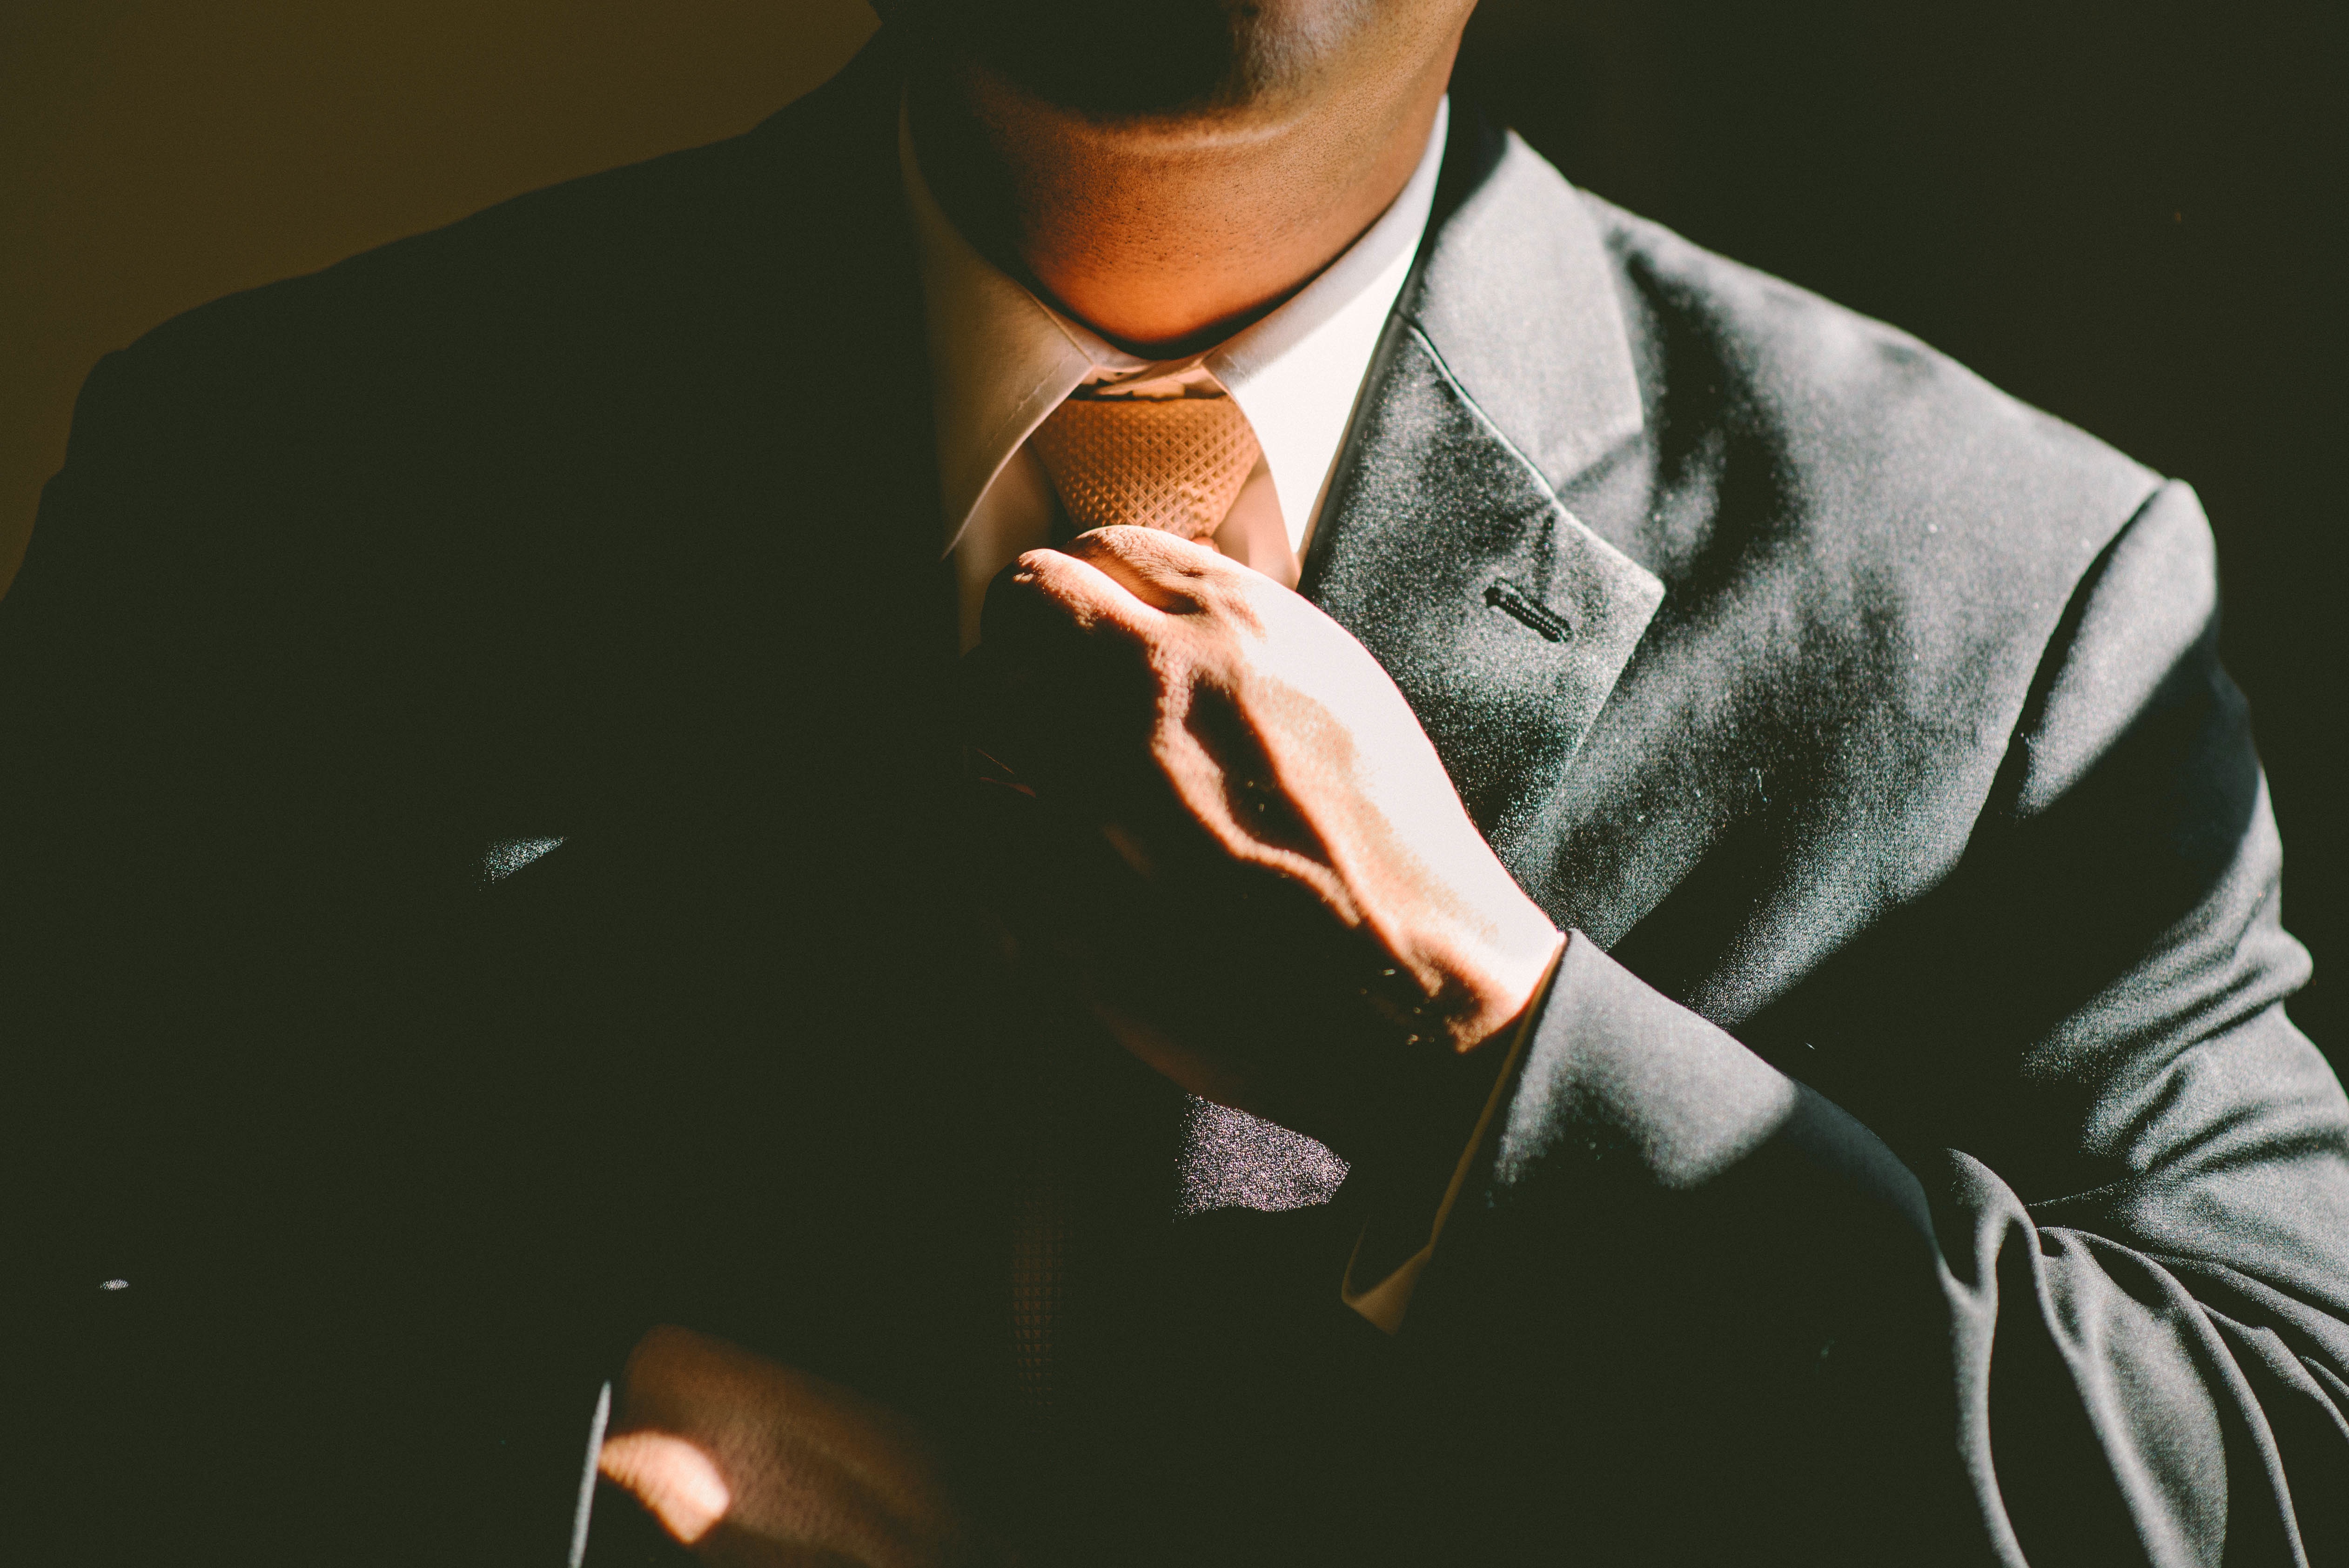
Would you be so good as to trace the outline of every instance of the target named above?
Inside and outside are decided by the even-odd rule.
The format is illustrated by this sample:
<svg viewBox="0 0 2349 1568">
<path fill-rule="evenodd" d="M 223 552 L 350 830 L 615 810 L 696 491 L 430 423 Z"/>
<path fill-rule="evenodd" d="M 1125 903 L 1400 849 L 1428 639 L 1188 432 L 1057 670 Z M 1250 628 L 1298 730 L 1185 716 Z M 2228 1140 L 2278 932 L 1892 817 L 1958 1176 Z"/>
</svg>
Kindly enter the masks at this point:
<svg viewBox="0 0 2349 1568">
<path fill-rule="evenodd" d="M 1290 587 L 1304 559 L 1379 347 L 1435 204 L 1449 99 L 1428 148 L 1388 209 L 1278 310 L 1224 343 L 1149 361 L 1106 343 L 980 256 L 921 178 L 911 115 L 897 117 L 897 162 L 921 246 L 937 413 L 937 488 L 954 556 L 963 648 L 980 641 L 987 584 L 1024 549 L 1048 545 L 1059 498 L 1027 439 L 1076 387 L 1153 380 L 1219 385 L 1257 432 L 1264 458 L 1233 500 L 1214 547 Z"/>
</svg>

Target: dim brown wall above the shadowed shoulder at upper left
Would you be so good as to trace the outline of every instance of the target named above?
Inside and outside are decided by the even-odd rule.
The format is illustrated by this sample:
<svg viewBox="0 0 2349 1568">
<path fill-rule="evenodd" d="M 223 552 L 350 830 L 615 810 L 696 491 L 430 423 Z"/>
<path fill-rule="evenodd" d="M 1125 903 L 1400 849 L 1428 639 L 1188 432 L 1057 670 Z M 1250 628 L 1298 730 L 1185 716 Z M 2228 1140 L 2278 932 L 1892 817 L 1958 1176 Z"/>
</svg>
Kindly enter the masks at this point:
<svg viewBox="0 0 2349 1568">
<path fill-rule="evenodd" d="M 0 5 L 0 584 L 106 350 L 510 195 L 731 136 L 862 0 Z"/>
</svg>

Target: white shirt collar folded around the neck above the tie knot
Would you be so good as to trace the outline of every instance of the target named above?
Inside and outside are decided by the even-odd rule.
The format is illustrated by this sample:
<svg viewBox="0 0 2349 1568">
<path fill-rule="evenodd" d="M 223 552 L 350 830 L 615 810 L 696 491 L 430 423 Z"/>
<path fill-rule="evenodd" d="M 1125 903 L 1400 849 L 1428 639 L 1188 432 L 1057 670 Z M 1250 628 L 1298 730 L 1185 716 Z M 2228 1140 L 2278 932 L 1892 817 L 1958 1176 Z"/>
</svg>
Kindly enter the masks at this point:
<svg viewBox="0 0 2349 1568">
<path fill-rule="evenodd" d="M 1426 232 L 1449 108 L 1449 99 L 1438 106 L 1409 183 L 1337 261 L 1252 326 L 1167 361 L 1128 354 L 980 256 L 930 197 L 911 115 L 900 108 L 897 162 L 921 251 L 944 547 L 963 538 L 1029 432 L 1088 378 L 1144 380 L 1198 366 L 1254 427 L 1290 542 L 1301 549 L 1379 331 Z"/>
</svg>

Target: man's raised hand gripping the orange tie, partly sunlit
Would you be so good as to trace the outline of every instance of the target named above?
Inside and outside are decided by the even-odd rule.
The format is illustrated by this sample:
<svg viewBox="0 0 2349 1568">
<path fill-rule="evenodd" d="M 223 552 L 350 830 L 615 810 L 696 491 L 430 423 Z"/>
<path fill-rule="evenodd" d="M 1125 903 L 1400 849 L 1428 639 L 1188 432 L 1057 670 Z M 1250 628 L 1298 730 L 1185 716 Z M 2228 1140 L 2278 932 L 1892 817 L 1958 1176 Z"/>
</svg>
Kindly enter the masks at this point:
<svg viewBox="0 0 2349 1568">
<path fill-rule="evenodd" d="M 1369 650 L 1207 547 L 1102 528 L 1019 556 L 972 744 L 1052 829 L 1027 861 L 1090 838 L 1113 866 L 1073 897 L 1027 869 L 1045 892 L 1008 918 L 1038 979 L 1193 1094 L 1339 1153 L 1391 1141 L 1555 953 Z"/>
</svg>

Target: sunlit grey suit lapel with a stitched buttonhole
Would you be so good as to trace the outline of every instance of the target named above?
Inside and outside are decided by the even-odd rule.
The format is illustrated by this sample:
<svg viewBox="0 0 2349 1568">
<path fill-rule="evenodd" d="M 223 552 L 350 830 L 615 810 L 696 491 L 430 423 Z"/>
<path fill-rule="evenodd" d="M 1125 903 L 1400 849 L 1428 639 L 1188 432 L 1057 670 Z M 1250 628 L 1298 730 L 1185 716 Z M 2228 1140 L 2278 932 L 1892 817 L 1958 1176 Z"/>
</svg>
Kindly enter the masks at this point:
<svg viewBox="0 0 2349 1568">
<path fill-rule="evenodd" d="M 1522 141 L 1463 120 L 1301 589 L 1395 676 L 1522 876 L 1663 584 L 1557 500 L 1642 430 L 1597 228 Z"/>
</svg>

